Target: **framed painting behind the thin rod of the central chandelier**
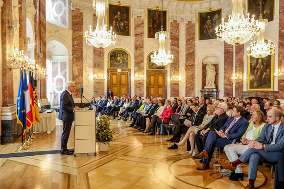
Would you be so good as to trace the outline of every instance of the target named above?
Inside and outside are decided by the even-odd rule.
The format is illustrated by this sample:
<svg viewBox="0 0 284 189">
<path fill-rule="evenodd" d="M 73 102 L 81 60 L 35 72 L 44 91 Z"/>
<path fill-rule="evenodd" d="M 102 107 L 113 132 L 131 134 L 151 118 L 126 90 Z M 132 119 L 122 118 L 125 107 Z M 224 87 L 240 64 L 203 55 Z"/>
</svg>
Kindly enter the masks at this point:
<svg viewBox="0 0 284 189">
<path fill-rule="evenodd" d="M 148 38 L 155 38 L 155 34 L 161 31 L 162 11 L 147 8 L 147 33 Z M 163 10 L 163 30 L 167 31 L 167 11 Z"/>
</svg>

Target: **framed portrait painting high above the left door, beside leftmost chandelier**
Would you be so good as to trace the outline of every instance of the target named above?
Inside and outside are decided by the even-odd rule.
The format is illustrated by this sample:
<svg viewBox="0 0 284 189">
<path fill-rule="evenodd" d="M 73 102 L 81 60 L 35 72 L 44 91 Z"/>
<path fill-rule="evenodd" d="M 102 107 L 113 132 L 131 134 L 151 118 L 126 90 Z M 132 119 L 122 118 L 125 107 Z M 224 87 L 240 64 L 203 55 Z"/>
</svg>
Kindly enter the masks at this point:
<svg viewBox="0 0 284 189">
<path fill-rule="evenodd" d="M 117 35 L 130 36 L 130 6 L 109 3 L 108 30 L 112 28 Z"/>
</svg>

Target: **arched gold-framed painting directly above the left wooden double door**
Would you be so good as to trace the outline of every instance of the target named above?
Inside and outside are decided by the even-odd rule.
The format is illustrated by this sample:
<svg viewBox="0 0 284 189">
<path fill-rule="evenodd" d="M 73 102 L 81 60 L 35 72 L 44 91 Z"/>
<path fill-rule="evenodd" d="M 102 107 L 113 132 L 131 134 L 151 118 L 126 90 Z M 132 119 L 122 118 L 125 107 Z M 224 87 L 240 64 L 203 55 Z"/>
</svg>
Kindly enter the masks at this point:
<svg viewBox="0 0 284 189">
<path fill-rule="evenodd" d="M 122 49 L 116 48 L 109 53 L 109 68 L 129 69 L 129 53 Z"/>
</svg>

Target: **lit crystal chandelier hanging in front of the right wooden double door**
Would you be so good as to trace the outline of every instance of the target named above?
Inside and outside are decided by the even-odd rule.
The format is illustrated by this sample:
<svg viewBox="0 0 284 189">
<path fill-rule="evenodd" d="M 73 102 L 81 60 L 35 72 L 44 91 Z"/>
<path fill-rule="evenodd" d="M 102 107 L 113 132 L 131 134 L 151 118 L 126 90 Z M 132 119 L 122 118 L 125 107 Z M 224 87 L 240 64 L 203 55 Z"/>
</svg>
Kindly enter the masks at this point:
<svg viewBox="0 0 284 189">
<path fill-rule="evenodd" d="M 168 39 L 168 32 L 163 31 L 163 0 L 162 0 L 162 27 L 161 31 L 155 34 L 156 39 L 159 39 L 160 47 L 158 54 L 156 51 L 151 55 L 151 61 L 157 65 L 167 65 L 172 63 L 173 55 L 170 54 L 170 51 L 165 50 L 165 41 Z"/>
</svg>

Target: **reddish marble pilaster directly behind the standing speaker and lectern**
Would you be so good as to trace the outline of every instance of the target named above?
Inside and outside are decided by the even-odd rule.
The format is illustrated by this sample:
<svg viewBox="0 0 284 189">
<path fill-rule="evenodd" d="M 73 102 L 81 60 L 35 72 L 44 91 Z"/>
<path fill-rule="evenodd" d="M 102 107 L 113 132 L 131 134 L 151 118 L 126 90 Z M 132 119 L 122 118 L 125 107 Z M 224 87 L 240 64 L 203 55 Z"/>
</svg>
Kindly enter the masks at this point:
<svg viewBox="0 0 284 189">
<path fill-rule="evenodd" d="M 73 97 L 81 97 L 80 88 L 83 88 L 83 12 L 72 10 L 72 78 L 76 88 Z"/>
</svg>

